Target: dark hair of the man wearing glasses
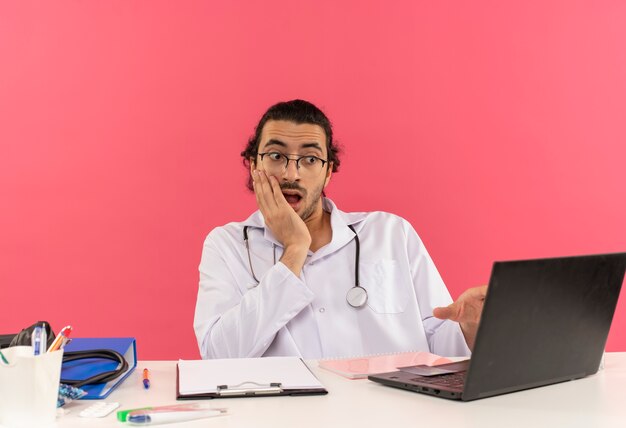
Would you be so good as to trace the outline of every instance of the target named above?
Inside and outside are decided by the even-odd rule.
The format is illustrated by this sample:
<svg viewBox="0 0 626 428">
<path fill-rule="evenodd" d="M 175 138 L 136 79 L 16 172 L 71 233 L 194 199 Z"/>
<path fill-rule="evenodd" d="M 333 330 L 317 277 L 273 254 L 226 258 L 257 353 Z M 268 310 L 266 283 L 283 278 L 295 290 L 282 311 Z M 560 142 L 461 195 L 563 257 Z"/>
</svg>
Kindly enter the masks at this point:
<svg viewBox="0 0 626 428">
<path fill-rule="evenodd" d="M 292 100 L 274 104 L 261 117 L 259 124 L 254 130 L 254 135 L 250 137 L 245 150 L 241 152 L 243 164 L 248 170 L 250 169 L 250 158 L 255 158 L 258 154 L 263 127 L 270 120 L 286 120 L 297 124 L 307 123 L 321 127 L 326 134 L 328 161 L 332 162 L 333 172 L 339 169 L 340 150 L 336 141 L 333 141 L 333 128 L 326 115 L 308 101 Z M 248 189 L 253 190 L 252 177 L 248 177 Z"/>
</svg>

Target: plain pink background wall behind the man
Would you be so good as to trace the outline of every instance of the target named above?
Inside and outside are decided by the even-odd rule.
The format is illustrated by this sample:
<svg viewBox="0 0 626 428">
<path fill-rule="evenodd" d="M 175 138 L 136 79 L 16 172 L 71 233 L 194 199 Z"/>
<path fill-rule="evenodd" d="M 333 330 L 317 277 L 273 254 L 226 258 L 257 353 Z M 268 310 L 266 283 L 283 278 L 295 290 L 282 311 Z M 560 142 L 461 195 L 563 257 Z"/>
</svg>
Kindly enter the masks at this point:
<svg viewBox="0 0 626 428">
<path fill-rule="evenodd" d="M 239 152 L 296 97 L 345 149 L 329 196 L 410 220 L 454 296 L 493 260 L 625 251 L 624 22 L 619 0 L 1 2 L 0 333 L 198 357 L 202 242 L 255 209 Z"/>
</svg>

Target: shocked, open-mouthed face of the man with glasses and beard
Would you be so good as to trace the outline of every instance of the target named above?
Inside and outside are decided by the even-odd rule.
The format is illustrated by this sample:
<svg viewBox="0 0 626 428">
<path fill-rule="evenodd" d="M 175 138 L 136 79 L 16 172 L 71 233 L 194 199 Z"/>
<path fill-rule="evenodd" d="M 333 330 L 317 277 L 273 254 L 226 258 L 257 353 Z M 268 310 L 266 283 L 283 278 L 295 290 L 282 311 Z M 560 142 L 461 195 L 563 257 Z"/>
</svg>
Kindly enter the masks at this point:
<svg viewBox="0 0 626 428">
<path fill-rule="evenodd" d="M 321 195 L 330 181 L 332 165 L 325 163 L 323 166 L 319 165 L 319 168 L 310 168 L 304 163 L 312 159 L 305 158 L 300 161 L 298 168 L 295 162 L 300 156 L 328 159 L 326 133 L 319 125 L 270 120 L 263 126 L 258 152 L 272 155 L 264 155 L 263 160 L 260 155 L 251 159 L 250 172 L 259 169 L 264 170 L 268 176 L 276 177 L 285 199 L 303 220 L 321 211 Z M 286 168 L 284 160 L 270 161 L 271 157 L 280 159 L 277 154 L 287 155 L 292 159 Z"/>
</svg>

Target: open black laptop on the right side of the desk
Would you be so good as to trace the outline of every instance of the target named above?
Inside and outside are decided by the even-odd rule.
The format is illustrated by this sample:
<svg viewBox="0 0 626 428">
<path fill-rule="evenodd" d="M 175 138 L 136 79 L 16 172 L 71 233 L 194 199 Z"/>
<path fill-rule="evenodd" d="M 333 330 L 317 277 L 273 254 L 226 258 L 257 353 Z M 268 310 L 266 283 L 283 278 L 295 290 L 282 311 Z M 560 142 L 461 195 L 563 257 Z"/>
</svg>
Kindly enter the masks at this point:
<svg viewBox="0 0 626 428">
<path fill-rule="evenodd" d="M 496 262 L 470 360 L 368 378 L 470 401 L 594 374 L 625 270 L 626 253 Z"/>
</svg>

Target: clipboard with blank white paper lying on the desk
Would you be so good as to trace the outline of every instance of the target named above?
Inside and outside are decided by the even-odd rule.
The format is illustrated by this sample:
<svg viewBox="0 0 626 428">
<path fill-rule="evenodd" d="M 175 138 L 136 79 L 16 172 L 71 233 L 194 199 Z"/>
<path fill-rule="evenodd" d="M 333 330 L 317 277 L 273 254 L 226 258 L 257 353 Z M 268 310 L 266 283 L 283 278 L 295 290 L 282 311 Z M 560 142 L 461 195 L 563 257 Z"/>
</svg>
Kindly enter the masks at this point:
<svg viewBox="0 0 626 428">
<path fill-rule="evenodd" d="M 324 394 L 328 391 L 298 357 L 181 360 L 176 365 L 177 400 Z"/>
</svg>

